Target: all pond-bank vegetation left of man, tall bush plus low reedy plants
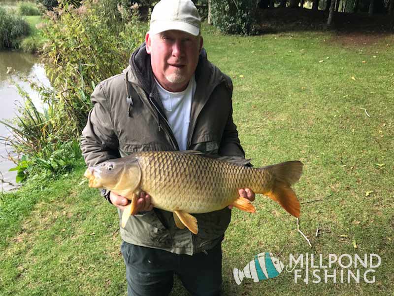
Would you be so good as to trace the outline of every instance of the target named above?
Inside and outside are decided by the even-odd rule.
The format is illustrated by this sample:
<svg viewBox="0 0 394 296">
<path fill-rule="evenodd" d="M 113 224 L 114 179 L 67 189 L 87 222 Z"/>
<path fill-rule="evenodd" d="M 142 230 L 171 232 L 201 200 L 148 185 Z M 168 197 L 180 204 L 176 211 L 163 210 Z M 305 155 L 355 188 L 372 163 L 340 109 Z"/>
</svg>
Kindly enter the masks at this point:
<svg viewBox="0 0 394 296">
<path fill-rule="evenodd" d="M 116 7 L 120 20 L 115 21 L 111 18 L 115 12 L 110 13 L 106 3 L 86 1 L 74 8 L 60 2 L 60 8 L 48 12 L 51 19 L 41 25 L 39 36 L 25 39 L 22 45 L 33 51 L 37 38 L 46 40 L 41 56 L 53 89 L 28 81 L 39 93 L 44 111 L 38 111 L 27 92 L 18 88 L 25 105 L 12 121 L 0 121 L 12 132 L 12 137 L 2 140 L 18 155 L 25 155 L 17 166 L 20 180 L 57 176 L 72 167 L 80 155 L 75 143 L 92 108 L 90 94 L 95 85 L 121 73 L 131 52 L 144 40 L 147 26 L 138 21 L 137 5 L 131 12 Z"/>
</svg>

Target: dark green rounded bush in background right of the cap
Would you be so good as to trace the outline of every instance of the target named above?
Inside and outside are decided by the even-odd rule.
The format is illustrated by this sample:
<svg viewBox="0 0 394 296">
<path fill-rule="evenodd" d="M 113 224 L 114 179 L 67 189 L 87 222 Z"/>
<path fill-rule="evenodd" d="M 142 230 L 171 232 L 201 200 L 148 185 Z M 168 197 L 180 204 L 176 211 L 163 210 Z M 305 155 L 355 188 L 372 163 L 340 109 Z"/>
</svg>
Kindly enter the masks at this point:
<svg viewBox="0 0 394 296">
<path fill-rule="evenodd" d="M 256 34 L 256 0 L 212 1 L 212 24 L 226 34 Z"/>
</svg>

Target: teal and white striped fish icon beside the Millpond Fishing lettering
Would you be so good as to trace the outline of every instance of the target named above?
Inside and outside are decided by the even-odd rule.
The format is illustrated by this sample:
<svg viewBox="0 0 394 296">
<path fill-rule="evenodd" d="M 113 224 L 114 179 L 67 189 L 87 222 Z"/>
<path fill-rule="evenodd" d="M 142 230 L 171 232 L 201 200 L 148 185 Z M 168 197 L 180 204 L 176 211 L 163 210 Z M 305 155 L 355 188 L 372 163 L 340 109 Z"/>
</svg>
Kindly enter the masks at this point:
<svg viewBox="0 0 394 296">
<path fill-rule="evenodd" d="M 283 270 L 284 265 L 279 259 L 272 256 L 272 253 L 260 253 L 250 261 L 243 271 L 234 268 L 233 274 L 237 285 L 240 285 L 243 278 L 253 279 L 255 283 L 277 277 Z"/>
</svg>

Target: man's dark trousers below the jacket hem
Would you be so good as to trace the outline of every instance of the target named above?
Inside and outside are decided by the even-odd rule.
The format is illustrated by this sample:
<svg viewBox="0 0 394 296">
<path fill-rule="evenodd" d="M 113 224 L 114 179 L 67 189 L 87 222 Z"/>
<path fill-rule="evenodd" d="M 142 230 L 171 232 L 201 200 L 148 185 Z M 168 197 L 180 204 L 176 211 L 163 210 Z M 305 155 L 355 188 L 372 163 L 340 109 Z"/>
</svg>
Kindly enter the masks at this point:
<svg viewBox="0 0 394 296">
<path fill-rule="evenodd" d="M 121 248 L 126 263 L 128 296 L 164 296 L 172 290 L 174 273 L 194 296 L 220 295 L 222 244 L 193 256 L 140 247 L 127 242 Z"/>
</svg>

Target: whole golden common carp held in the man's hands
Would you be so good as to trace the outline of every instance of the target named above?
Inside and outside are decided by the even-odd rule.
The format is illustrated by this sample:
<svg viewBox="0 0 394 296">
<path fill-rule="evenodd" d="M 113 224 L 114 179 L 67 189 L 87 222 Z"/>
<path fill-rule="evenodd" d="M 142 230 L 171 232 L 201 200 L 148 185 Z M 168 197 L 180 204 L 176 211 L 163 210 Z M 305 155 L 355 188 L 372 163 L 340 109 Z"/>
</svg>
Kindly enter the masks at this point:
<svg viewBox="0 0 394 296">
<path fill-rule="evenodd" d="M 191 214 L 221 210 L 229 205 L 254 213 L 255 207 L 238 190 L 250 188 L 277 201 L 299 217 L 299 202 L 291 185 L 302 173 L 302 162 L 287 161 L 263 168 L 245 166 L 249 160 L 214 158 L 199 151 L 136 152 L 89 167 L 89 186 L 105 188 L 131 200 L 122 214 L 122 227 L 136 212 L 141 191 L 154 207 L 173 213 L 177 227 L 198 232 Z"/>
</svg>

